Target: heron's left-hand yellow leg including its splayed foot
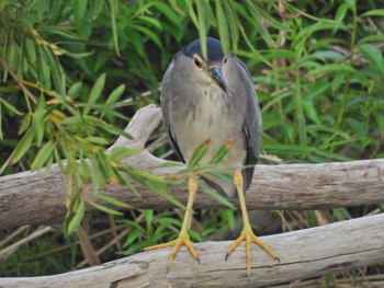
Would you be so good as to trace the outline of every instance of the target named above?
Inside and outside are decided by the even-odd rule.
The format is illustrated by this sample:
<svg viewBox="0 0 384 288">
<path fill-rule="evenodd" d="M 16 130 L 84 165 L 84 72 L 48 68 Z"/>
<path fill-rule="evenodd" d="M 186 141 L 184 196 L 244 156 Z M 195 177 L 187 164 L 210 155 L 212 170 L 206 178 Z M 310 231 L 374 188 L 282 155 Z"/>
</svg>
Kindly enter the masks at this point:
<svg viewBox="0 0 384 288">
<path fill-rule="evenodd" d="M 185 247 L 191 253 L 193 258 L 195 258 L 200 263 L 197 253 L 194 251 L 193 245 L 192 245 L 192 241 L 188 234 L 188 230 L 191 227 L 192 212 L 193 212 L 192 206 L 194 203 L 194 198 L 196 196 L 197 187 L 199 187 L 197 178 L 195 175 L 192 175 L 189 180 L 189 183 L 188 183 L 189 197 L 188 197 L 188 204 L 187 204 L 187 211 L 184 215 L 184 219 L 182 222 L 182 227 L 181 227 L 179 237 L 171 242 L 158 244 L 158 245 L 154 245 L 154 246 L 144 249 L 144 251 L 150 251 L 150 250 L 156 250 L 156 249 L 161 249 L 161 247 L 173 246 L 173 250 L 172 250 L 171 254 L 169 255 L 169 258 L 167 262 L 167 267 L 168 267 L 167 272 L 172 266 L 173 258 L 178 254 L 178 252 L 182 245 L 185 245 Z"/>
</svg>

